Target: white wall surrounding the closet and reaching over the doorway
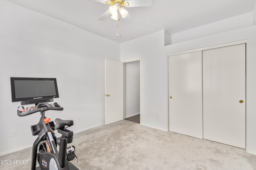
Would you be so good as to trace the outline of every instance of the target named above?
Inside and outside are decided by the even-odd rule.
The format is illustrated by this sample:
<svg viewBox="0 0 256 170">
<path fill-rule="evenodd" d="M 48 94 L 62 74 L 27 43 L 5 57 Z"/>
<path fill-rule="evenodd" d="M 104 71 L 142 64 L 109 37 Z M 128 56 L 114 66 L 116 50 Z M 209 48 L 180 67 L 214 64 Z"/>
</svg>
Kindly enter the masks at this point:
<svg viewBox="0 0 256 170">
<path fill-rule="evenodd" d="M 196 31 L 196 29 L 195 29 Z M 141 58 L 141 125 L 168 130 L 167 54 L 248 39 L 246 45 L 246 150 L 256 154 L 256 26 L 164 46 L 164 30 L 121 44 L 121 61 Z M 158 118 L 156 115 L 159 115 Z"/>
</svg>

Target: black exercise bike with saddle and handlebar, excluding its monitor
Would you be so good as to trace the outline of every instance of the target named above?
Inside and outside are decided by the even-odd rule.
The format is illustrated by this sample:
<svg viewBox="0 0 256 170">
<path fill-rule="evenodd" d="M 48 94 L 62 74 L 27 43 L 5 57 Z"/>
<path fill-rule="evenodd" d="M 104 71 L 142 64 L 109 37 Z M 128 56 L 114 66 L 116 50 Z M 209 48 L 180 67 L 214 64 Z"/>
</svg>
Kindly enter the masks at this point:
<svg viewBox="0 0 256 170">
<path fill-rule="evenodd" d="M 57 118 L 54 125 L 50 118 L 45 117 L 44 112 L 47 110 L 63 110 L 63 107 L 60 107 L 58 103 L 52 106 L 48 103 L 38 103 L 35 107 L 30 107 L 28 111 L 20 111 L 20 109 L 17 111 L 18 116 L 26 116 L 39 111 L 41 113 L 39 123 L 31 126 L 32 135 L 38 135 L 32 147 L 31 170 L 78 170 L 68 161 L 76 157 L 74 146 L 67 148 L 67 143 L 72 143 L 73 132 L 65 128 L 72 126 L 73 121 Z M 58 130 L 62 136 L 57 139 L 54 130 Z M 60 146 L 59 152 L 57 145 Z M 39 163 L 37 168 L 36 160 Z"/>
</svg>

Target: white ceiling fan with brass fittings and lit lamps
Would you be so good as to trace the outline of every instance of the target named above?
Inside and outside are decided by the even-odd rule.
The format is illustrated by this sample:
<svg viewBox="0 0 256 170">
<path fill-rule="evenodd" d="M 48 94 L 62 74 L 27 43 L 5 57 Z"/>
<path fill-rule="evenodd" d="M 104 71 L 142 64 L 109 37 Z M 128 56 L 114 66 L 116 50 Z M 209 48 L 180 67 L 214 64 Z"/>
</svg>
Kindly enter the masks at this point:
<svg viewBox="0 0 256 170">
<path fill-rule="evenodd" d="M 112 15 L 113 20 L 119 21 L 119 16 L 126 18 L 126 20 L 132 21 L 132 16 L 128 11 L 123 7 L 142 7 L 142 6 L 151 6 L 152 0 L 93 0 L 103 4 L 111 5 L 109 9 L 104 12 L 98 20 L 105 20 L 108 16 Z"/>
</svg>

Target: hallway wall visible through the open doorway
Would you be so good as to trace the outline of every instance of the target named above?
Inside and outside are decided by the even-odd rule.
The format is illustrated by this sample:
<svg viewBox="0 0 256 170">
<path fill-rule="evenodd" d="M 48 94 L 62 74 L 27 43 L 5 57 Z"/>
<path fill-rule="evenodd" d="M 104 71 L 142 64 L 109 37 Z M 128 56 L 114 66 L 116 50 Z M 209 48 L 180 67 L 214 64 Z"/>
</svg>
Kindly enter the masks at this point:
<svg viewBox="0 0 256 170">
<path fill-rule="evenodd" d="M 124 64 L 125 118 L 140 114 L 140 61 Z"/>
</svg>

